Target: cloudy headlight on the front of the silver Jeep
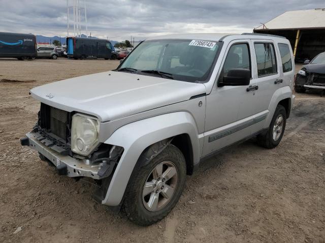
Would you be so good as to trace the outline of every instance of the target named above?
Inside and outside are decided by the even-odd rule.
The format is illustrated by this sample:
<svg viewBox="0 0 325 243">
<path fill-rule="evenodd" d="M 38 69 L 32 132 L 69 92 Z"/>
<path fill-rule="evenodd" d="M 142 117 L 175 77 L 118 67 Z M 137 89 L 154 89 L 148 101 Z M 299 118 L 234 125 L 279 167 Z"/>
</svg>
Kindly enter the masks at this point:
<svg viewBox="0 0 325 243">
<path fill-rule="evenodd" d="M 72 117 L 71 150 L 81 155 L 89 153 L 98 145 L 99 120 L 83 114 Z"/>
</svg>

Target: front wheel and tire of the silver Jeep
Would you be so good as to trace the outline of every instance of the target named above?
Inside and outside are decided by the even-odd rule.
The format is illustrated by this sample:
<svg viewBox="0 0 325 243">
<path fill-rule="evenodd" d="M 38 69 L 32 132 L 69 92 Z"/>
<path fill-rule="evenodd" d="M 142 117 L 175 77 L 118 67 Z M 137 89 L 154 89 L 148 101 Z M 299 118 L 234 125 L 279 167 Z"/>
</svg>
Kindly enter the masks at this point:
<svg viewBox="0 0 325 243">
<path fill-rule="evenodd" d="M 139 160 L 127 185 L 122 210 L 138 225 L 158 222 L 177 204 L 185 177 L 185 158 L 172 144 L 149 163 Z"/>
</svg>

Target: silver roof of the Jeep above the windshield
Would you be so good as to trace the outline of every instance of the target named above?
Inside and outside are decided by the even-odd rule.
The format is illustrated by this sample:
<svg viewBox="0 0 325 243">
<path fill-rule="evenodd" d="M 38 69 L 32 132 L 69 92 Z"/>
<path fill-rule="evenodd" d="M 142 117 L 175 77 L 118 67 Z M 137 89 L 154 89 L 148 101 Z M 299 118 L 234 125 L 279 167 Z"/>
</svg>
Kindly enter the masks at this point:
<svg viewBox="0 0 325 243">
<path fill-rule="evenodd" d="M 267 36 L 267 37 L 266 37 Z M 282 36 L 271 35 L 271 34 L 256 34 L 256 33 L 184 33 L 184 34 L 166 34 L 157 35 L 154 37 L 147 38 L 147 40 L 153 39 L 201 39 L 204 41 L 221 41 L 222 39 L 230 37 L 232 39 L 273 39 L 273 38 L 284 38 Z"/>
</svg>

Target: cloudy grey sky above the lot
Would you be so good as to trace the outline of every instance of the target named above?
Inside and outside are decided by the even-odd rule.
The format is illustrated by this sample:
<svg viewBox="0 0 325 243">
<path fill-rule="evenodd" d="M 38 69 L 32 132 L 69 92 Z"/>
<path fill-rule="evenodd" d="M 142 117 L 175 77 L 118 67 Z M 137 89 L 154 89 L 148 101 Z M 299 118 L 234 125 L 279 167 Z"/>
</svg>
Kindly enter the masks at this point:
<svg viewBox="0 0 325 243">
<path fill-rule="evenodd" d="M 80 3 L 83 1 L 80 0 Z M 70 2 L 72 4 L 73 0 Z M 129 39 L 131 35 L 137 41 L 165 33 L 252 32 L 259 23 L 265 23 L 285 11 L 325 8 L 324 0 L 86 2 L 88 32 L 115 41 Z M 67 1 L 0 0 L 0 31 L 66 36 Z"/>
</svg>

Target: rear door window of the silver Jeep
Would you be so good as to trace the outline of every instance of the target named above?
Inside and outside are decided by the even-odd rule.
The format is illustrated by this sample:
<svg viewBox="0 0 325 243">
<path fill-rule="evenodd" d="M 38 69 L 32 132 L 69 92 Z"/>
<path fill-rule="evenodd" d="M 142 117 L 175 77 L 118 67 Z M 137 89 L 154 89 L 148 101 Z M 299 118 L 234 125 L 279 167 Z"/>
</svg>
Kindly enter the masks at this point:
<svg viewBox="0 0 325 243">
<path fill-rule="evenodd" d="M 258 77 L 277 73 L 274 46 L 271 43 L 255 43 Z"/>
</svg>

